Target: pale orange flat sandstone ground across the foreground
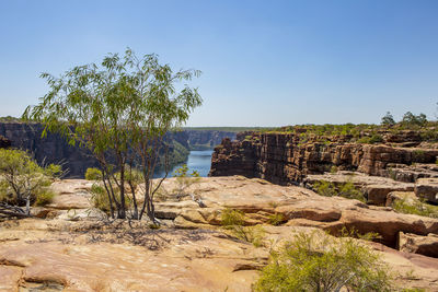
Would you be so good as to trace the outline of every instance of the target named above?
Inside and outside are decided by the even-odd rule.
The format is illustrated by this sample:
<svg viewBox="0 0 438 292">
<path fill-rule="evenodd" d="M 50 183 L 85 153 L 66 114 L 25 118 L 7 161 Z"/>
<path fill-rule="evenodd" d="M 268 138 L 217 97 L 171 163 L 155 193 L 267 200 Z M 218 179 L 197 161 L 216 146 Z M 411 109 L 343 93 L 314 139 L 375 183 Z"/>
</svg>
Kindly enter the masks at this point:
<svg viewBox="0 0 438 292">
<path fill-rule="evenodd" d="M 362 178 L 371 179 L 368 187 L 376 185 Z M 397 191 L 417 187 L 397 184 Z M 50 206 L 35 208 L 35 218 L 0 223 L 0 291 L 251 291 L 269 248 L 297 232 L 338 235 L 343 227 L 381 235 L 366 244 L 391 266 L 400 287 L 438 291 L 433 254 L 438 219 L 231 176 L 201 178 L 186 189 L 205 208 L 189 196 L 176 200 L 176 182 L 168 179 L 157 203 L 163 226 L 151 229 L 146 221 L 103 220 L 90 206 L 91 185 L 57 182 L 58 196 Z M 265 245 L 255 247 L 224 232 L 226 208 L 243 211 L 246 225 L 262 224 Z M 279 225 L 272 224 L 273 215 L 281 218 Z"/>
</svg>

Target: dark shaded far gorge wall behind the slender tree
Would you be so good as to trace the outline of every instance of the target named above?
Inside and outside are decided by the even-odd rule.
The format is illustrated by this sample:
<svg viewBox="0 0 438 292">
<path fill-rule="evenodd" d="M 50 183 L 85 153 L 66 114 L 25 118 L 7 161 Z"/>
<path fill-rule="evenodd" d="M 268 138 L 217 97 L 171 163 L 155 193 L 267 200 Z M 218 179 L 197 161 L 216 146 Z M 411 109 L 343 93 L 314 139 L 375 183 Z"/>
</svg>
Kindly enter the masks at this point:
<svg viewBox="0 0 438 292">
<path fill-rule="evenodd" d="M 69 145 L 59 135 L 48 132 L 46 138 L 42 138 L 43 129 L 39 124 L 0 122 L 0 136 L 9 139 L 12 148 L 33 153 L 38 163 L 61 164 L 68 170 L 67 177 L 82 178 L 87 168 L 97 166 L 97 162 L 85 149 Z M 226 137 L 234 139 L 235 132 L 183 129 L 169 133 L 166 139 L 172 157 L 170 168 L 186 162 L 191 150 L 212 149 Z"/>
</svg>

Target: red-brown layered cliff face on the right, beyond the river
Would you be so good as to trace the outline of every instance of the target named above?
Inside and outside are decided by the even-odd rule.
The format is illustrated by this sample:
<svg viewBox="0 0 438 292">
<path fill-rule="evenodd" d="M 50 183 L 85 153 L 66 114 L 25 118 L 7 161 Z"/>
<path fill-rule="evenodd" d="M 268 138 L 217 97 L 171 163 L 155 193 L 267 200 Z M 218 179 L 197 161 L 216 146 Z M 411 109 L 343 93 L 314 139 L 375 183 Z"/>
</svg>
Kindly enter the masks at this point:
<svg viewBox="0 0 438 292">
<path fill-rule="evenodd" d="M 308 174 L 321 174 L 336 166 L 413 182 L 427 174 L 405 168 L 414 163 L 435 163 L 438 155 L 436 149 L 360 144 L 346 140 L 336 137 L 324 143 L 300 143 L 298 133 L 241 133 L 237 141 L 224 139 L 215 149 L 209 175 L 243 175 L 290 185 L 301 182 Z"/>
</svg>

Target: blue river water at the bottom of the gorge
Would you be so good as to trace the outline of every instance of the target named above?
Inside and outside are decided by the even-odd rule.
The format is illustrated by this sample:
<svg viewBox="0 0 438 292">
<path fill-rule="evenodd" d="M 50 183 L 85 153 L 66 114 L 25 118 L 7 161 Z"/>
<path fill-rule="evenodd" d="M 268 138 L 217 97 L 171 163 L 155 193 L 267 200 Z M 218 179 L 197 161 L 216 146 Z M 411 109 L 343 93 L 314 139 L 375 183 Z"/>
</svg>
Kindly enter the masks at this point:
<svg viewBox="0 0 438 292">
<path fill-rule="evenodd" d="M 212 150 L 191 151 L 187 161 L 185 163 L 174 166 L 169 172 L 168 177 L 172 177 L 175 170 L 181 167 L 183 164 L 187 164 L 188 173 L 197 171 L 199 173 L 199 176 L 207 177 L 211 166 L 211 154 Z M 164 174 L 165 174 L 164 172 L 159 172 L 153 177 L 155 178 L 163 177 Z"/>
</svg>

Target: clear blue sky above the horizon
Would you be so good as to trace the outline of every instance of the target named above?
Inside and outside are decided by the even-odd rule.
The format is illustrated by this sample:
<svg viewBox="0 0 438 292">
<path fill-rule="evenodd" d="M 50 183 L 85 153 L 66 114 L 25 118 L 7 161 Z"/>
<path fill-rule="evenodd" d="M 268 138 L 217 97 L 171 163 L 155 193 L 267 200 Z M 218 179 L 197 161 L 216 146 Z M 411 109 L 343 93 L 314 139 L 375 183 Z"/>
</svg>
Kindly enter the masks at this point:
<svg viewBox="0 0 438 292">
<path fill-rule="evenodd" d="M 203 71 L 187 126 L 435 118 L 438 1 L 0 1 L 0 116 L 107 52 Z"/>
</svg>

